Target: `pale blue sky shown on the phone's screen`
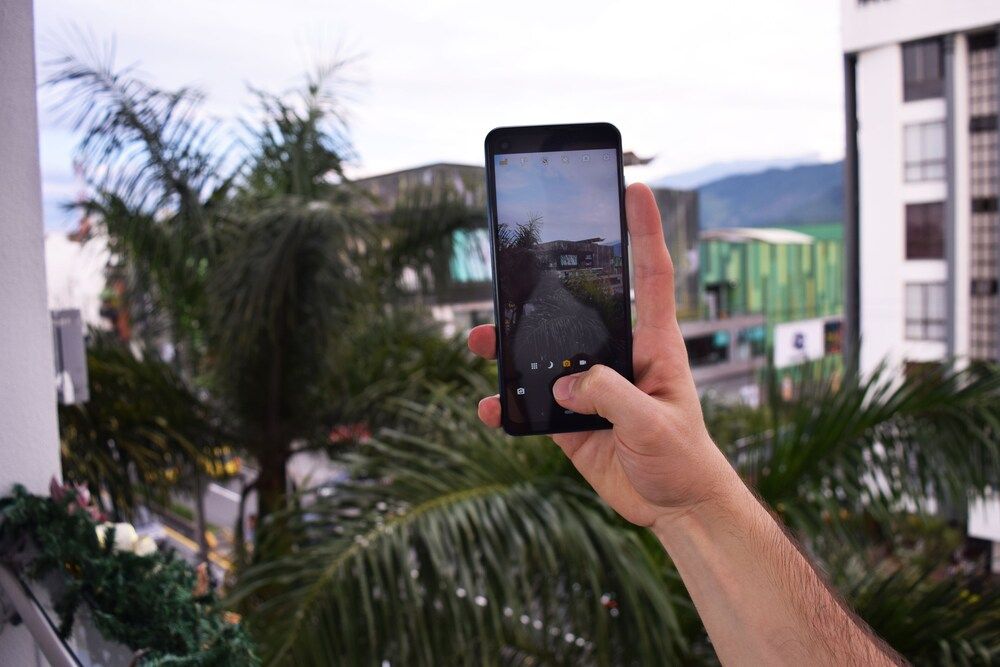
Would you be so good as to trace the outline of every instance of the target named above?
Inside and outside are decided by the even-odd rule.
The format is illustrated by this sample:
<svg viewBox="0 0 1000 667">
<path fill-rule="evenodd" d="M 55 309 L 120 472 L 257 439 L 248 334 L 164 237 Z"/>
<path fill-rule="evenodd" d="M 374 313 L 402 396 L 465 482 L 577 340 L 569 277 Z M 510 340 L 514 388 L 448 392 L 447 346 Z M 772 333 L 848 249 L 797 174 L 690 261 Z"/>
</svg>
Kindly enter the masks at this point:
<svg viewBox="0 0 1000 667">
<path fill-rule="evenodd" d="M 611 160 L 603 160 L 603 155 Z M 562 151 L 497 155 L 497 215 L 524 224 L 541 216 L 539 237 L 548 241 L 621 240 L 614 151 Z M 585 159 L 586 157 L 586 159 Z"/>
</svg>

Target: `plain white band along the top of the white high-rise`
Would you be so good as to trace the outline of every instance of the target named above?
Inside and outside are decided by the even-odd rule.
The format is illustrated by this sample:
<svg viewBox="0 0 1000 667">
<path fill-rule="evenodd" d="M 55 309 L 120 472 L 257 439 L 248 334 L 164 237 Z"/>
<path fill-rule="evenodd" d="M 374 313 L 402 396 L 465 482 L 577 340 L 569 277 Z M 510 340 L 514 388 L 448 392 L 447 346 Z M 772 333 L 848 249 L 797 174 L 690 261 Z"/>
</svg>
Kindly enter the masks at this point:
<svg viewBox="0 0 1000 667">
<path fill-rule="evenodd" d="M 840 0 L 844 51 L 1000 23 L 997 0 Z"/>
</svg>

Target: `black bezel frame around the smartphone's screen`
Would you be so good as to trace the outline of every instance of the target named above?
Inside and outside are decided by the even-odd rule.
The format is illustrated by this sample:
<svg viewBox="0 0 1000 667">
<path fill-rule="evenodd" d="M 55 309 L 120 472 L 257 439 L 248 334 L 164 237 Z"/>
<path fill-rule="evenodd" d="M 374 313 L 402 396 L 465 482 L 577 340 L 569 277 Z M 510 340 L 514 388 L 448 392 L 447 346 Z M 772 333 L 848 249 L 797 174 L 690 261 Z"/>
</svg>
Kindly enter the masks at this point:
<svg viewBox="0 0 1000 667">
<path fill-rule="evenodd" d="M 501 144 L 507 143 L 504 148 Z M 629 313 L 626 327 L 626 357 L 627 365 L 624 373 L 629 382 L 634 381 L 632 368 L 632 307 L 631 284 L 629 281 L 629 239 L 628 224 L 625 217 L 625 176 L 622 157 L 621 133 L 610 123 L 579 123 L 571 125 L 532 125 L 523 127 L 498 127 L 486 135 L 486 190 L 487 217 L 490 230 L 490 264 L 493 275 L 493 321 L 497 332 L 497 376 L 500 384 L 501 425 L 510 435 L 543 435 L 553 433 L 575 433 L 579 431 L 595 431 L 611 428 L 611 423 L 597 415 L 572 415 L 572 424 L 565 427 L 555 427 L 553 420 L 548 424 L 532 422 L 519 423 L 508 418 L 507 387 L 504 378 L 503 345 L 500 343 L 500 288 L 497 275 L 497 208 L 496 208 L 496 174 L 494 157 L 498 153 L 538 153 L 561 150 L 613 149 L 617 162 L 618 173 L 618 204 L 619 222 L 622 239 L 622 286 L 625 295 L 626 312 Z M 559 376 L 561 377 L 561 376 Z M 555 380 L 553 380 L 555 382 Z M 560 421 L 563 421 L 560 419 Z"/>
</svg>

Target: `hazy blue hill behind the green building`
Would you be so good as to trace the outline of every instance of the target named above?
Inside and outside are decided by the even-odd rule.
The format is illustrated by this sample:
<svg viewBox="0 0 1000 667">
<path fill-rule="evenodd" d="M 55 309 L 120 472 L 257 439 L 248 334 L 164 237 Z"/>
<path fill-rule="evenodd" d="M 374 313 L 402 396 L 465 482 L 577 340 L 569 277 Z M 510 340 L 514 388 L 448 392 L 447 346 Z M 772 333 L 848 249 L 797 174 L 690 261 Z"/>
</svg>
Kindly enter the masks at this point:
<svg viewBox="0 0 1000 667">
<path fill-rule="evenodd" d="M 789 227 L 844 219 L 843 163 L 728 176 L 698 189 L 702 229 Z"/>
</svg>

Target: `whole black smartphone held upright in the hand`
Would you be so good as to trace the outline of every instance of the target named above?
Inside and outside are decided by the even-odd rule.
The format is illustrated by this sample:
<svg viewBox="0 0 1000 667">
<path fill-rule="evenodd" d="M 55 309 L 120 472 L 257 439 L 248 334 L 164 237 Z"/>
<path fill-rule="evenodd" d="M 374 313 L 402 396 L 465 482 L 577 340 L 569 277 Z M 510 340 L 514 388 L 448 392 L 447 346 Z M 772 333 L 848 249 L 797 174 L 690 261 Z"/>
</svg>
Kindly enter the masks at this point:
<svg viewBox="0 0 1000 667">
<path fill-rule="evenodd" d="M 564 409 L 552 385 L 594 364 L 632 381 L 621 134 L 608 123 L 504 127 L 486 136 L 503 428 L 610 428 Z"/>
</svg>

